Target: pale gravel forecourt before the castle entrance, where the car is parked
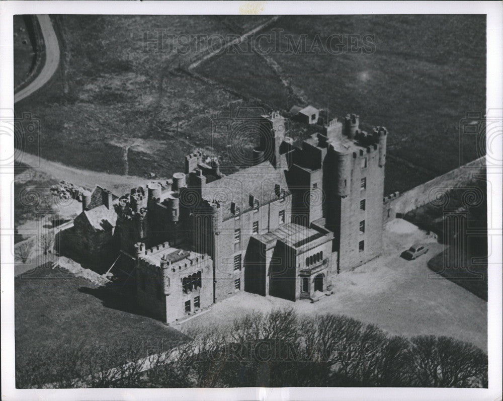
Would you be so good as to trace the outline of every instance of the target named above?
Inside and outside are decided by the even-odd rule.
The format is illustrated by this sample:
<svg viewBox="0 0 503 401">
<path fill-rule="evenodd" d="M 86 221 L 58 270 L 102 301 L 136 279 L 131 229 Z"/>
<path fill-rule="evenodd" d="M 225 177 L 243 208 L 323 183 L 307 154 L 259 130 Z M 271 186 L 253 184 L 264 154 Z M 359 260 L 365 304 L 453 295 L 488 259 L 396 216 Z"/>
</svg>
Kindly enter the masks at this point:
<svg viewBox="0 0 503 401">
<path fill-rule="evenodd" d="M 352 271 L 342 269 L 332 281 L 333 294 L 317 302 L 291 302 L 239 292 L 175 328 L 185 331 L 227 325 L 247 312 L 292 307 L 305 315 L 344 314 L 406 337 L 430 334 L 453 337 L 486 352 L 487 302 L 428 268 L 428 261 L 442 252 L 444 246 L 402 219 L 385 226 L 383 241 L 379 258 Z M 414 243 L 427 244 L 428 254 L 412 261 L 401 258 L 400 254 Z"/>
</svg>

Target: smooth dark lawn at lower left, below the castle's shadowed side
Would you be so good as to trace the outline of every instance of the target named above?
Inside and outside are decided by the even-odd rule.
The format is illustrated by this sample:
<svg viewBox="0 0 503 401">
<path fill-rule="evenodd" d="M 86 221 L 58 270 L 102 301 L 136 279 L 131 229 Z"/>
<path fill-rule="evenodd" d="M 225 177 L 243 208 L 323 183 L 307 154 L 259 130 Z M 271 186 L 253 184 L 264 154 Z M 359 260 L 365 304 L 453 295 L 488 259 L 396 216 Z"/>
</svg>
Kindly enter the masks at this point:
<svg viewBox="0 0 503 401">
<path fill-rule="evenodd" d="M 25 385 L 30 374 L 41 376 L 37 369 L 55 379 L 68 364 L 64 356 L 82 350 L 106 355 L 102 367 L 110 368 L 157 352 L 159 342 L 167 348 L 182 339 L 177 330 L 140 314 L 130 299 L 65 270 L 45 266 L 15 279 L 16 369 Z"/>
</svg>

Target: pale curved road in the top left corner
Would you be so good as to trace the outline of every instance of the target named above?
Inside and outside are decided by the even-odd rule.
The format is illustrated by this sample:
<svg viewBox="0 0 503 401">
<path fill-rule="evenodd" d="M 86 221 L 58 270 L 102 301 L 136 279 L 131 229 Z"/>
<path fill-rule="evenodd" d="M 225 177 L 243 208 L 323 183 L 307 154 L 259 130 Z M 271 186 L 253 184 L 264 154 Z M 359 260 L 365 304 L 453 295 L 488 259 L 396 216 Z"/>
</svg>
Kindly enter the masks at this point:
<svg viewBox="0 0 503 401">
<path fill-rule="evenodd" d="M 37 15 L 36 17 L 42 30 L 42 36 L 44 37 L 45 64 L 40 74 L 37 75 L 30 85 L 14 94 L 14 103 L 19 102 L 40 89 L 49 81 L 59 65 L 59 44 L 56 32 L 54 32 L 54 28 L 52 27 L 51 19 L 47 14 Z"/>
</svg>

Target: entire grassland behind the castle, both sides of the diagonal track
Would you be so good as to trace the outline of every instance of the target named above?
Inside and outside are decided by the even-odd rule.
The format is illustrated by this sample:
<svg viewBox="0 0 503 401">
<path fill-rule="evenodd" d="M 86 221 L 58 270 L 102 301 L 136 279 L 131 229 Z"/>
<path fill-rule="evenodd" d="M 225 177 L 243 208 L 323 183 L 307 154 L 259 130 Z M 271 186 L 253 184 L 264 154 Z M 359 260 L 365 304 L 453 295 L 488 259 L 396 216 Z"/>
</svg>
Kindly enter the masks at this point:
<svg viewBox="0 0 503 401">
<path fill-rule="evenodd" d="M 307 41 L 316 33 L 372 34 L 375 53 L 223 54 L 197 68 L 220 85 L 168 73 L 194 54 L 145 54 L 142 29 L 147 39 L 157 28 L 225 35 L 257 26 L 262 17 L 226 17 L 225 23 L 211 16 L 57 20 L 60 69 L 37 96 L 18 103 L 16 113 L 41 119 L 43 157 L 75 167 L 170 176 L 182 167 L 184 153 L 210 142 L 217 112 L 246 106 L 248 97 L 287 110 L 298 102 L 294 87 L 306 102 L 328 106 L 331 116 L 356 112 L 365 129 L 387 126 L 389 193 L 458 166 L 459 120 L 485 110 L 483 16 L 284 16 L 270 29 L 295 38 L 306 34 Z M 464 143 L 463 163 L 484 151 L 474 141 Z M 225 141 L 213 144 L 209 150 L 226 153 Z"/>
</svg>

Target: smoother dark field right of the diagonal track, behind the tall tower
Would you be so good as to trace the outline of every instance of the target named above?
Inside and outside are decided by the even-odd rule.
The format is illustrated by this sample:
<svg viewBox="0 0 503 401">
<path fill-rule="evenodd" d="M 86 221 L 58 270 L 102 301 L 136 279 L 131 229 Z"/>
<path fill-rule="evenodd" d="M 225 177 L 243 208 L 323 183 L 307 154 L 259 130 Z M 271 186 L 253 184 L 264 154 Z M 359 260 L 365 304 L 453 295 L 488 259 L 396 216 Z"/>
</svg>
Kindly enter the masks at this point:
<svg viewBox="0 0 503 401">
<path fill-rule="evenodd" d="M 315 34 L 322 41 L 330 34 L 375 35 L 373 54 L 271 56 L 309 103 L 328 107 L 332 117 L 357 113 L 364 129 L 388 128 L 386 193 L 459 166 L 459 121 L 485 110 L 484 16 L 284 16 L 274 28 L 284 30 L 282 48 L 287 34 L 296 41 L 306 34 L 307 43 Z M 199 72 L 288 110 L 285 89 L 258 58 L 225 54 Z M 463 163 L 483 153 L 473 140 L 464 144 Z"/>
</svg>

